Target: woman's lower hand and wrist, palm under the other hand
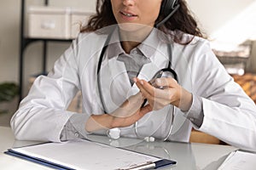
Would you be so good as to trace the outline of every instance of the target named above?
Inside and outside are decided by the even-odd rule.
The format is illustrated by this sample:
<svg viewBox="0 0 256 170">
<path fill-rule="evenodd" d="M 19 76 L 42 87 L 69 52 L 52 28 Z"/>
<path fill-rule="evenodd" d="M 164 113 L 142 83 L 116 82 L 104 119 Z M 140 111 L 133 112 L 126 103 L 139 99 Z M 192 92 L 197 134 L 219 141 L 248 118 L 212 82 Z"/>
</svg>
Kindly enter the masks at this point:
<svg viewBox="0 0 256 170">
<path fill-rule="evenodd" d="M 152 111 L 150 105 L 143 105 L 143 95 L 137 93 L 132 95 L 113 113 L 92 115 L 85 124 L 87 132 L 94 132 L 101 129 L 110 129 L 113 127 L 129 127 L 149 111 Z"/>
</svg>

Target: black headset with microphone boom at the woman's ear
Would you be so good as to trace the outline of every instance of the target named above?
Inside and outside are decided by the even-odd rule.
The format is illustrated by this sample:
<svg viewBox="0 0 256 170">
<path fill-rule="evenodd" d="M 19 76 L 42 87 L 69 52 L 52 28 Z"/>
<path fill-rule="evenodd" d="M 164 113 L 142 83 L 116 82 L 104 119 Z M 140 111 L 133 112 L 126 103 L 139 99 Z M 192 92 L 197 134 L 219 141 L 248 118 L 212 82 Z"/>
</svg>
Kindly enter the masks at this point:
<svg viewBox="0 0 256 170">
<path fill-rule="evenodd" d="M 163 25 L 166 20 L 169 20 L 172 14 L 177 11 L 179 6 L 178 0 L 163 0 L 160 8 L 160 15 L 163 15 L 164 19 L 159 23 L 156 23 L 154 26 L 158 28 L 159 26 Z"/>
</svg>

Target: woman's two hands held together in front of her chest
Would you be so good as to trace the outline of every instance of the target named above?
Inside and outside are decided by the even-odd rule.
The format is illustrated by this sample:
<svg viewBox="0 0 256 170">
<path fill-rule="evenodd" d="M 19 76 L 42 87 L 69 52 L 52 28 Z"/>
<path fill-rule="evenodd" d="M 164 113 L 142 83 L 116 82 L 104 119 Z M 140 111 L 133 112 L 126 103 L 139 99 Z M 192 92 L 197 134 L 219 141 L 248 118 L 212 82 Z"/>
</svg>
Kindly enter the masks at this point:
<svg viewBox="0 0 256 170">
<path fill-rule="evenodd" d="M 91 115 L 85 124 L 88 132 L 102 128 L 129 127 L 148 112 L 158 111 L 170 104 L 182 111 L 189 111 L 192 94 L 182 88 L 172 77 L 158 78 L 154 86 L 138 78 L 134 78 L 134 82 L 140 92 L 125 100 L 117 110 L 110 114 Z M 144 99 L 148 100 L 148 105 L 142 107 Z"/>
</svg>

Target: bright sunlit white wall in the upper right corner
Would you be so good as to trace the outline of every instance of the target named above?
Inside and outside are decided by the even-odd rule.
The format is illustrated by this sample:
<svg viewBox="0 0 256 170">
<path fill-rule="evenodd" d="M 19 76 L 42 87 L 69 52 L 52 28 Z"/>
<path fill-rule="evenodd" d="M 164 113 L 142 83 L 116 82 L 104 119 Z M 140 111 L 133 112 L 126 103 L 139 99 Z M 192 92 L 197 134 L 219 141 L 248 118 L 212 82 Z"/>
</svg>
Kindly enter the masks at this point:
<svg viewBox="0 0 256 170">
<path fill-rule="evenodd" d="M 256 1 L 188 0 L 189 6 L 212 42 L 212 48 L 232 50 L 253 41 L 247 71 L 256 73 Z"/>
</svg>

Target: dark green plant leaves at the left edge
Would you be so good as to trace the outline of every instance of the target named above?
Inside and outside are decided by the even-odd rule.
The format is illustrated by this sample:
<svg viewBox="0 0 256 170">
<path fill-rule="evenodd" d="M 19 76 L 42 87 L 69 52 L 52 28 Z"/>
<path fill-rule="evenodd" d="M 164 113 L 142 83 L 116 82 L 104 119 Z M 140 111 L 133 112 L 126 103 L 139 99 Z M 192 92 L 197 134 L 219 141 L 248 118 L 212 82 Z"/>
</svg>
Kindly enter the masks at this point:
<svg viewBox="0 0 256 170">
<path fill-rule="evenodd" d="M 14 82 L 0 83 L 0 104 L 9 102 L 19 94 L 19 87 Z M 0 113 L 7 112 L 0 108 Z"/>
</svg>

